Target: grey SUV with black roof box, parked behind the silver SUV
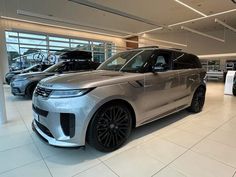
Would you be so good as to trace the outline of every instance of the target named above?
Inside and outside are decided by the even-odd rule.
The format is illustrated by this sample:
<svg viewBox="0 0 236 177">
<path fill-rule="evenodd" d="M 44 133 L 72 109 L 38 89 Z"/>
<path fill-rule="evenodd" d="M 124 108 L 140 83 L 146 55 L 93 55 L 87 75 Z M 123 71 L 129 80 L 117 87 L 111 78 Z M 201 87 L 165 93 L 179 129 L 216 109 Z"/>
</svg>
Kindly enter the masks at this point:
<svg viewBox="0 0 236 177">
<path fill-rule="evenodd" d="M 13 77 L 11 81 L 11 92 L 16 96 L 32 97 L 34 89 L 38 82 L 44 78 L 58 75 L 68 74 L 73 72 L 82 72 L 96 69 L 100 63 L 91 61 L 91 52 L 85 51 L 70 51 L 74 55 L 64 53 L 62 58 L 66 61 L 61 61 L 43 72 L 32 72 L 19 74 Z M 70 58 L 66 58 L 70 56 Z"/>
</svg>

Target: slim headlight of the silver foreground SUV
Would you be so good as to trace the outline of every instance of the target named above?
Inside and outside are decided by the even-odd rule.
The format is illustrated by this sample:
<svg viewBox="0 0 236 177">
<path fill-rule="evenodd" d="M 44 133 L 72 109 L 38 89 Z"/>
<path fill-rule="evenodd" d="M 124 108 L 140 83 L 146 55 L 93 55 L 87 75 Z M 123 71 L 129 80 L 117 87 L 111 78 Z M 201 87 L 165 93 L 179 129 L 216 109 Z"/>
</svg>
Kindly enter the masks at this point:
<svg viewBox="0 0 236 177">
<path fill-rule="evenodd" d="M 79 97 L 90 92 L 94 88 L 89 89 L 76 89 L 76 90 L 53 90 L 50 94 L 50 98 L 70 98 Z"/>
</svg>

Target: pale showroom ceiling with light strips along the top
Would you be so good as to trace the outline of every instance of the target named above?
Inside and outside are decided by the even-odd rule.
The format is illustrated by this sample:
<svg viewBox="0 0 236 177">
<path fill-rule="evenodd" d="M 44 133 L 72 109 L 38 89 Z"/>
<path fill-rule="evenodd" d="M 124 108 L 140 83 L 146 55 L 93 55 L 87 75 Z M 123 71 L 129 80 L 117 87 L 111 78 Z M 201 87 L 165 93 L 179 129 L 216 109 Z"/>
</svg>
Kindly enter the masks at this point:
<svg viewBox="0 0 236 177">
<path fill-rule="evenodd" d="M 222 25 L 214 22 L 215 18 L 236 28 L 236 4 L 231 0 L 180 1 L 200 11 L 205 17 L 176 0 L 0 0 L 0 15 L 121 37 L 153 29 L 158 30 L 150 32 L 152 34 L 180 31 L 182 25 L 203 31 L 223 30 Z M 83 2 L 92 6 L 84 5 Z M 103 10 L 99 9 L 100 6 Z M 214 16 L 232 9 L 235 11 Z M 169 27 L 199 18 L 200 20 Z"/>
</svg>

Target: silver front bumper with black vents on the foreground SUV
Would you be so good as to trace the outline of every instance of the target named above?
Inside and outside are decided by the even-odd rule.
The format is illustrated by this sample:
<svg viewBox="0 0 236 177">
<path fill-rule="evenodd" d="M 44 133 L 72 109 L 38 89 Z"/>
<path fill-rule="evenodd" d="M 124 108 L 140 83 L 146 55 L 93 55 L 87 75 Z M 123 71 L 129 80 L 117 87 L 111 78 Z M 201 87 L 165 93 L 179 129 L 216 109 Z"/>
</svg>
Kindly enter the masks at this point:
<svg viewBox="0 0 236 177">
<path fill-rule="evenodd" d="M 85 145 L 86 131 L 94 114 L 96 99 L 84 95 L 50 99 L 33 96 L 33 129 L 50 145 Z"/>
</svg>

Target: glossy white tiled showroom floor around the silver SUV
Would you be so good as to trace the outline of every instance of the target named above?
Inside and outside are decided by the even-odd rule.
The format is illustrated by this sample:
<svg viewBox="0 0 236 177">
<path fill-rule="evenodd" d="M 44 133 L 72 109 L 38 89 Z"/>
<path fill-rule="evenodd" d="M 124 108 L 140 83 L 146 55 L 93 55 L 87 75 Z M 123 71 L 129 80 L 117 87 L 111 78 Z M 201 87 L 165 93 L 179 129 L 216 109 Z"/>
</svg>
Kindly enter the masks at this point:
<svg viewBox="0 0 236 177">
<path fill-rule="evenodd" d="M 8 123 L 0 125 L 0 177 L 236 177 L 236 97 L 208 83 L 199 114 L 181 111 L 135 129 L 112 153 L 55 148 L 31 130 L 31 100 L 5 86 Z"/>
</svg>

